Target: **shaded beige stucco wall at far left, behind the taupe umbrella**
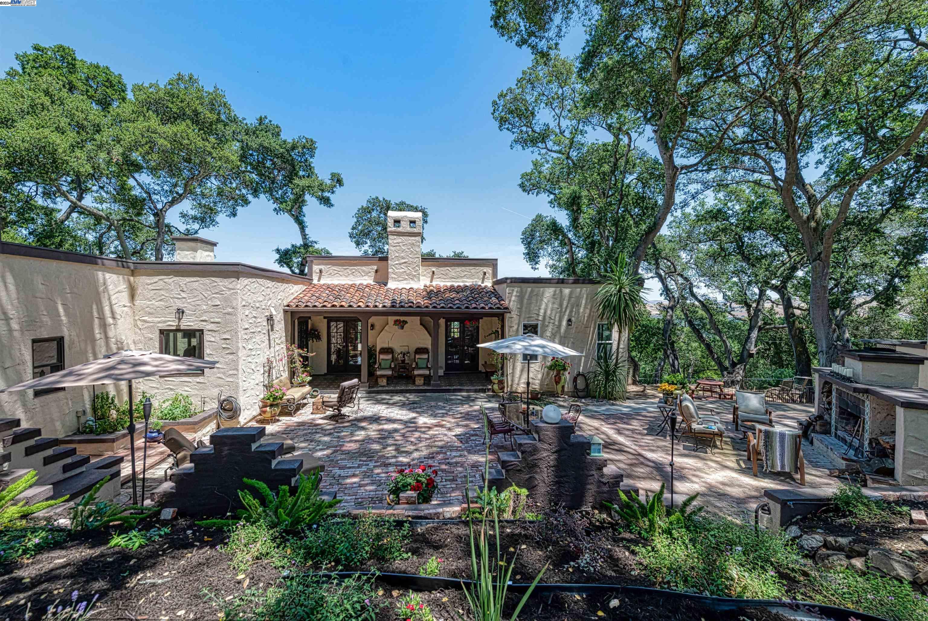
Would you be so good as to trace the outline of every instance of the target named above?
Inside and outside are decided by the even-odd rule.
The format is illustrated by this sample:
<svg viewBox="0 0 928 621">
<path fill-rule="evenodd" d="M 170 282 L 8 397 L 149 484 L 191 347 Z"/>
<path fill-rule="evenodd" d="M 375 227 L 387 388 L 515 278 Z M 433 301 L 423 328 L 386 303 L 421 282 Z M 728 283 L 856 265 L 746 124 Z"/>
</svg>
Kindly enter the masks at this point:
<svg viewBox="0 0 928 621">
<path fill-rule="evenodd" d="M 134 295 L 128 269 L 0 254 L 0 385 L 32 379 L 32 339 L 63 336 L 69 367 L 132 347 Z M 64 435 L 77 427 L 74 410 L 89 412 L 92 399 L 90 386 L 3 393 L 0 418 Z"/>
</svg>

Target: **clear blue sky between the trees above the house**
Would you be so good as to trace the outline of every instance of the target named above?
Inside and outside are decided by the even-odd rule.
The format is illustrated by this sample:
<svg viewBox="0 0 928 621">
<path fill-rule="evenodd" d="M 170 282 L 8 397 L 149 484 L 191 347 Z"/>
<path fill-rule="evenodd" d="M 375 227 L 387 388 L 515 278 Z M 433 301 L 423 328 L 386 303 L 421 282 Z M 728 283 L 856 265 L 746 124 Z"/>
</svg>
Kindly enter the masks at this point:
<svg viewBox="0 0 928 621">
<path fill-rule="evenodd" d="M 60 2 L 0 8 L 0 65 L 33 43 L 65 44 L 127 83 L 177 71 L 217 84 L 238 114 L 264 114 L 285 135 L 316 139 L 316 170 L 342 173 L 331 210 L 310 210 L 311 236 L 336 254 L 367 197 L 427 206 L 426 249 L 496 256 L 501 276 L 547 276 L 522 259 L 522 194 L 531 155 L 509 149 L 490 104 L 531 62 L 496 35 L 478 2 Z M 521 214 L 521 215 L 520 215 Z M 296 227 L 264 201 L 201 232 L 220 261 L 274 266 Z"/>
</svg>

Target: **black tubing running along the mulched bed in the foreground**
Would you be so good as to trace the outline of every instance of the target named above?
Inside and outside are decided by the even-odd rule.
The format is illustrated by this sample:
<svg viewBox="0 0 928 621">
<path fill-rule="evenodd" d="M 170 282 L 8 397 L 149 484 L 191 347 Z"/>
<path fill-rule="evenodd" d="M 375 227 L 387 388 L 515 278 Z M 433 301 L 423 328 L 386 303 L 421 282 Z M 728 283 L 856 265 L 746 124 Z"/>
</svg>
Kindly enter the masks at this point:
<svg viewBox="0 0 928 621">
<path fill-rule="evenodd" d="M 380 572 L 325 572 L 316 574 L 291 574 L 285 577 L 292 578 L 296 576 L 321 576 L 338 579 L 352 576 L 373 576 L 381 582 L 393 585 L 394 587 L 418 591 L 465 589 L 473 584 L 472 580 L 461 578 L 415 576 L 412 574 L 384 574 Z M 507 592 L 522 594 L 531 586 L 531 583 L 509 582 Z M 819 603 L 785 602 L 780 600 L 742 600 L 738 598 L 697 595 L 695 593 L 684 593 L 683 591 L 677 590 L 651 589 L 651 587 L 632 587 L 628 585 L 540 583 L 535 585 L 535 589 L 532 591 L 533 595 L 548 595 L 554 593 L 600 596 L 622 594 L 625 596 L 655 597 L 677 601 L 685 600 L 698 603 L 718 613 L 739 610 L 741 608 L 766 608 L 771 612 L 780 613 L 780 615 L 786 615 L 797 619 L 814 619 L 824 616 L 824 618 L 832 619 L 833 621 L 851 621 L 852 618 L 857 619 L 857 621 L 888 621 L 882 616 L 867 615 L 857 610 L 848 610 L 847 608 L 827 606 Z"/>
</svg>

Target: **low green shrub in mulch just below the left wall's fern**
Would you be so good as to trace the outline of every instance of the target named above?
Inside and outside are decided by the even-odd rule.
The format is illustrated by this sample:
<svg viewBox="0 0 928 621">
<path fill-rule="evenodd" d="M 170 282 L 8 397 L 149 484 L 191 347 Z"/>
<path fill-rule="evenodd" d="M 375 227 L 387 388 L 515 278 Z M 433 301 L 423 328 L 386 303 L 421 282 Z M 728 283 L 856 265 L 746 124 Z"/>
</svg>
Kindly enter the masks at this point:
<svg viewBox="0 0 928 621">
<path fill-rule="evenodd" d="M 357 519 L 334 518 L 304 528 L 302 537 L 290 539 L 290 547 L 297 550 L 294 560 L 298 563 L 361 567 L 372 559 L 408 558 L 409 554 L 403 550 L 408 540 L 409 524 L 397 528 L 392 520 L 368 513 Z"/>
</svg>

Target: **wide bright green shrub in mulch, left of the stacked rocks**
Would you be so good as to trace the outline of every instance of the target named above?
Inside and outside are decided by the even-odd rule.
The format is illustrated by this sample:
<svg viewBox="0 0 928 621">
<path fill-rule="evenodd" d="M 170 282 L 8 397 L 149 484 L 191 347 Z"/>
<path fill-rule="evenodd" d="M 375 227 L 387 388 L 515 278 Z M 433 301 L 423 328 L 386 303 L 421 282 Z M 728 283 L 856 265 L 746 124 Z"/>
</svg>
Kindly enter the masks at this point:
<svg viewBox="0 0 928 621">
<path fill-rule="evenodd" d="M 783 576 L 797 577 L 804 563 L 785 536 L 705 516 L 689 527 L 672 520 L 633 551 L 658 587 L 721 597 L 782 597 Z"/>
</svg>

